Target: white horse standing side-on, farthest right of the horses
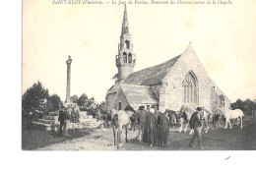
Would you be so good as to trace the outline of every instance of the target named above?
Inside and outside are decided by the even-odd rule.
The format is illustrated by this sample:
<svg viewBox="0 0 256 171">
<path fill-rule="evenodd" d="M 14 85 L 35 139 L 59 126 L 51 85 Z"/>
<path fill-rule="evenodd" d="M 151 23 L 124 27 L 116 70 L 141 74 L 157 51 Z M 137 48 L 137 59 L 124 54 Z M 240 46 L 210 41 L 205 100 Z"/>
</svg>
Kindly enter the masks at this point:
<svg viewBox="0 0 256 171">
<path fill-rule="evenodd" d="M 240 129 L 242 129 L 242 118 L 244 116 L 242 110 L 240 109 L 234 109 L 234 110 L 230 110 L 230 109 L 225 109 L 225 108 L 217 108 L 216 112 L 220 113 L 221 115 L 224 116 L 225 118 L 225 126 L 224 129 L 227 129 L 228 127 L 228 123 L 229 123 L 229 128 L 232 129 L 232 125 L 230 123 L 230 119 L 240 119 Z"/>
</svg>

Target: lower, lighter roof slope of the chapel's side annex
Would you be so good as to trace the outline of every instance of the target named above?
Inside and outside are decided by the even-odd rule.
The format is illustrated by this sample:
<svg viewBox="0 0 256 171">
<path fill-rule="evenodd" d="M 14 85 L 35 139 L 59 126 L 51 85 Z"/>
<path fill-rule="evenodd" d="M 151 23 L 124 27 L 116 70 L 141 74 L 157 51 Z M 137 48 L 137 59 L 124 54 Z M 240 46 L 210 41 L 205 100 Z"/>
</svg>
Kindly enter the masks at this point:
<svg viewBox="0 0 256 171">
<path fill-rule="evenodd" d="M 130 104 L 157 104 L 158 97 L 151 86 L 121 85 L 121 88 Z"/>
</svg>

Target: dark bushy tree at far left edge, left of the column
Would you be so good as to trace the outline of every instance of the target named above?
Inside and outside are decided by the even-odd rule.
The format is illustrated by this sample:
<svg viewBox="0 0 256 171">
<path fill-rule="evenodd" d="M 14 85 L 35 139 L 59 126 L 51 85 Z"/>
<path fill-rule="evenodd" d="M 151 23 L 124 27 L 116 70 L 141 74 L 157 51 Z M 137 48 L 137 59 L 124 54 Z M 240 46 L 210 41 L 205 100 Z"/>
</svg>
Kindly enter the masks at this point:
<svg viewBox="0 0 256 171">
<path fill-rule="evenodd" d="M 25 112 L 44 111 L 44 105 L 49 97 L 48 89 L 44 88 L 38 81 L 28 88 L 22 97 L 22 106 Z"/>
</svg>

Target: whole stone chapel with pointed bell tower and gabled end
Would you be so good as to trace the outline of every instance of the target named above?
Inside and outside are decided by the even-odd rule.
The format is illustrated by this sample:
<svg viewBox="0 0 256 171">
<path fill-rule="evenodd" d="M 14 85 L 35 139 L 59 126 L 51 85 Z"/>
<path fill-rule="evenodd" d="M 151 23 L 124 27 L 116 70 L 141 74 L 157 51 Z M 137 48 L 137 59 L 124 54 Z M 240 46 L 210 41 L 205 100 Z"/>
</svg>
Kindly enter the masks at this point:
<svg viewBox="0 0 256 171">
<path fill-rule="evenodd" d="M 155 105 L 161 111 L 177 111 L 182 105 L 191 108 L 204 106 L 211 111 L 218 106 L 229 106 L 229 99 L 208 76 L 191 43 L 180 55 L 134 72 L 136 56 L 126 6 L 115 64 L 117 81 L 105 96 L 108 110 L 121 110 L 128 104 L 135 110 L 141 105 Z"/>
</svg>

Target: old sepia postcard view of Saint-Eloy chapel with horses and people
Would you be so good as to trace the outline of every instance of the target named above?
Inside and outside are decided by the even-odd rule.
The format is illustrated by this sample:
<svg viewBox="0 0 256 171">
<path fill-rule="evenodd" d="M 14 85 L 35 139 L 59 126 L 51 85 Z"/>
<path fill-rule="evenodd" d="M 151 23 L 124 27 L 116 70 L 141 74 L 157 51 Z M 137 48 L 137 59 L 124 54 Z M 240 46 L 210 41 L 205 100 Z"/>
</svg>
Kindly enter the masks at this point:
<svg viewBox="0 0 256 171">
<path fill-rule="evenodd" d="M 23 0 L 21 150 L 255 150 L 255 9 Z"/>
</svg>

